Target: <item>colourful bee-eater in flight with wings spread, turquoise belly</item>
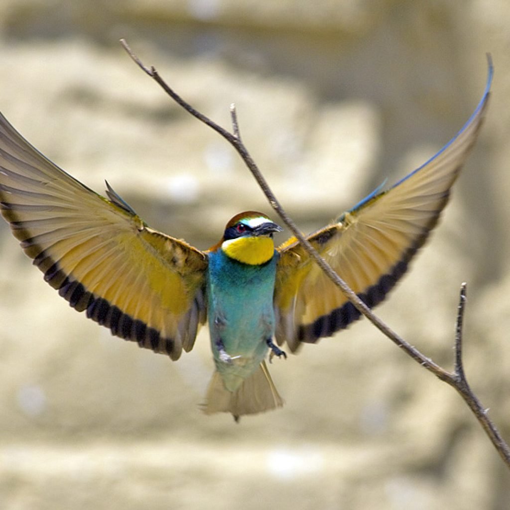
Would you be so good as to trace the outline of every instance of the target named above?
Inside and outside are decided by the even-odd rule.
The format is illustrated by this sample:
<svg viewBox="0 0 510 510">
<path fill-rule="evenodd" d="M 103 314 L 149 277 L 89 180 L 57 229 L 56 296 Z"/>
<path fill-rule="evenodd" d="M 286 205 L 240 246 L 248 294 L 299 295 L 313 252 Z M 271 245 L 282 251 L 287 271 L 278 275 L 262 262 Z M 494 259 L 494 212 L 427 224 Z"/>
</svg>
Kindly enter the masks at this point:
<svg viewBox="0 0 510 510">
<path fill-rule="evenodd" d="M 484 119 L 492 82 L 462 129 L 426 163 L 380 186 L 307 239 L 373 308 L 428 239 Z M 234 216 L 208 250 L 148 226 L 60 169 L 0 114 L 0 212 L 44 280 L 78 312 L 171 360 L 208 322 L 214 371 L 203 412 L 284 405 L 266 360 L 347 328 L 360 312 L 293 237 L 258 211 Z"/>
</svg>

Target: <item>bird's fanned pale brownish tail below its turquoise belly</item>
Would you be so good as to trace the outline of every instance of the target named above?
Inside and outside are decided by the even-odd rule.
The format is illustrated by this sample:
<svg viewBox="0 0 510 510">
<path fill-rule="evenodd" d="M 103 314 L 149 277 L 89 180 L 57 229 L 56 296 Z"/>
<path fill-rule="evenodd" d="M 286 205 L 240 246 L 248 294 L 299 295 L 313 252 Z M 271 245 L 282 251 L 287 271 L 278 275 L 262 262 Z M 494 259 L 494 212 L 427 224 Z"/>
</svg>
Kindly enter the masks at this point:
<svg viewBox="0 0 510 510">
<path fill-rule="evenodd" d="M 247 377 L 236 391 L 228 391 L 218 371 L 213 373 L 202 411 L 206 414 L 232 413 L 236 421 L 246 414 L 257 414 L 282 407 L 266 362 Z"/>
</svg>

